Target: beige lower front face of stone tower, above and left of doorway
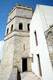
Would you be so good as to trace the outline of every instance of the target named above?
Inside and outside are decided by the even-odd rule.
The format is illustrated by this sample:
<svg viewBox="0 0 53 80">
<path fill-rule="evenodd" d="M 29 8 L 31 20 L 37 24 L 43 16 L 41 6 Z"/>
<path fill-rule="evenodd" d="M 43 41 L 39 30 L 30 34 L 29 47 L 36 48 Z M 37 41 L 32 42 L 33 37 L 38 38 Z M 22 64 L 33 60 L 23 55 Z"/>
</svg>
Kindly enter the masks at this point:
<svg viewBox="0 0 53 80">
<path fill-rule="evenodd" d="M 13 64 L 22 72 L 21 59 L 29 56 L 29 35 L 15 36 Z"/>
</svg>

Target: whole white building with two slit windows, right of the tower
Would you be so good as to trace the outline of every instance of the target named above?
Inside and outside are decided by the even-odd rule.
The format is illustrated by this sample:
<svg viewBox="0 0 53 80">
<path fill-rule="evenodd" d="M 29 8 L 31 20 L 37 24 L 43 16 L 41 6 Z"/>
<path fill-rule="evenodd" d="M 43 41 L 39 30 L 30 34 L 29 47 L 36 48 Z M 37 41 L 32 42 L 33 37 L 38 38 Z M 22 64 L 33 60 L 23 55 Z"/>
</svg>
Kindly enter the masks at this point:
<svg viewBox="0 0 53 80">
<path fill-rule="evenodd" d="M 53 80 L 53 67 L 49 56 L 50 53 L 53 57 L 53 28 L 49 28 L 53 24 L 52 14 L 52 6 L 37 5 L 30 24 L 30 56 L 33 57 L 32 71 L 42 80 Z M 52 30 L 52 33 L 46 38 L 48 29 L 50 32 Z M 50 52 L 49 47 L 52 48 Z"/>
</svg>

